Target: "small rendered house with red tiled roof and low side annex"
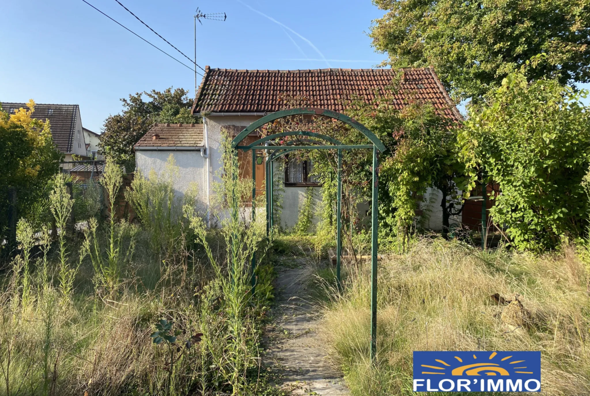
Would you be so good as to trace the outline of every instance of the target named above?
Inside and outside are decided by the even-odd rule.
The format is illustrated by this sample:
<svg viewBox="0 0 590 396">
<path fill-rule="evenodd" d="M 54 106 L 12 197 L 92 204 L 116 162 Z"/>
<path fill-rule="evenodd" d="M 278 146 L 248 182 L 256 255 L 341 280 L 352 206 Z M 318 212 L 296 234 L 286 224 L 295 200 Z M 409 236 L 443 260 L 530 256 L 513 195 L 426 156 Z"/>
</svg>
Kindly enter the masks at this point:
<svg viewBox="0 0 590 396">
<path fill-rule="evenodd" d="M 185 176 L 179 182 L 179 193 L 182 193 L 189 181 L 195 181 L 202 187 L 202 201 L 209 202 L 211 182 L 221 168 L 219 146 L 222 130 L 237 135 L 245 127 L 269 113 L 281 110 L 281 96 L 305 96 L 312 107 L 345 112 L 343 101 L 359 97 L 372 103 L 375 92 L 385 93 L 397 73 L 401 76 L 401 91 L 412 91 L 417 99 L 432 103 L 445 116 L 461 120 L 453 101 L 442 86 L 434 70 L 427 68 L 391 69 L 322 69 L 322 70 L 231 70 L 205 68 L 196 95 L 192 114 L 202 117 L 202 126 L 187 128 L 186 126 L 155 126 L 136 145 L 137 169 L 147 174 L 150 169 L 159 171 L 168 156 L 172 153 L 181 173 Z M 398 106 L 404 106 L 404 96 L 399 95 Z M 185 129 L 194 134 L 191 143 L 179 145 L 174 130 Z M 171 140 L 163 139 L 171 134 Z M 158 135 L 158 137 L 155 137 Z M 201 140 L 202 139 L 202 140 Z M 244 141 L 253 142 L 257 136 L 248 136 Z M 172 142 L 173 141 L 173 142 Z M 180 141 L 180 140 L 178 140 Z M 149 145 L 149 146 L 146 146 Z M 189 146 L 191 146 L 189 148 Z M 146 149 L 149 147 L 149 149 Z M 251 160 L 238 153 L 241 161 L 242 175 L 251 177 Z M 250 164 L 250 165 L 249 165 Z M 309 186 L 319 186 L 310 175 L 313 164 L 289 162 L 283 175 L 283 210 L 281 225 L 293 227 L 299 217 L 299 205 Z M 183 168 L 186 167 L 186 168 Z M 264 194 L 264 165 L 256 166 L 257 194 Z M 426 227 L 442 228 L 441 197 L 437 191 L 430 191 L 425 196 L 425 206 L 434 202 Z M 316 200 L 319 201 L 319 192 Z M 318 206 L 319 202 L 314 206 Z"/>
</svg>

